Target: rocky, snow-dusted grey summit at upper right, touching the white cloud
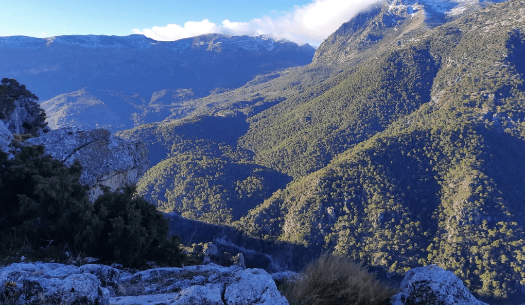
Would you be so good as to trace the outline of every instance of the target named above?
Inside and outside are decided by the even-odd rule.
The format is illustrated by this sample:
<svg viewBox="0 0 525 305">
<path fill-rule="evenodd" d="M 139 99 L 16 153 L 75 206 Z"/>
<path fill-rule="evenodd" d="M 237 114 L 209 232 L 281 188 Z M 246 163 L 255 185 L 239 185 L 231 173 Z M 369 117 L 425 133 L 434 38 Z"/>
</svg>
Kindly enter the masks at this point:
<svg viewBox="0 0 525 305">
<path fill-rule="evenodd" d="M 384 0 L 364 9 L 323 41 L 313 57 L 326 65 L 359 58 L 367 49 L 442 25 L 487 5 L 479 0 Z"/>
</svg>

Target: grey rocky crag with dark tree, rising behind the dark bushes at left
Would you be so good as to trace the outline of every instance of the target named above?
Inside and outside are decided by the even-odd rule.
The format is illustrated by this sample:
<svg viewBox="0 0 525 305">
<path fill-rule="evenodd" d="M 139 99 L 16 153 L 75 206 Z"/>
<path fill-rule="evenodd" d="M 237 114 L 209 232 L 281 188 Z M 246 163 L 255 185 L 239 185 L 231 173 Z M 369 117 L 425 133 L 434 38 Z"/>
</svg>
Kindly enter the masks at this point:
<svg viewBox="0 0 525 305">
<path fill-rule="evenodd" d="M 137 183 L 148 168 L 148 150 L 140 141 L 124 140 L 105 129 L 63 128 L 50 131 L 38 98 L 14 79 L 0 84 L 0 150 L 44 145 L 55 159 L 83 167 L 80 182 L 90 187 L 93 201 L 103 187 L 115 191 Z"/>
</svg>

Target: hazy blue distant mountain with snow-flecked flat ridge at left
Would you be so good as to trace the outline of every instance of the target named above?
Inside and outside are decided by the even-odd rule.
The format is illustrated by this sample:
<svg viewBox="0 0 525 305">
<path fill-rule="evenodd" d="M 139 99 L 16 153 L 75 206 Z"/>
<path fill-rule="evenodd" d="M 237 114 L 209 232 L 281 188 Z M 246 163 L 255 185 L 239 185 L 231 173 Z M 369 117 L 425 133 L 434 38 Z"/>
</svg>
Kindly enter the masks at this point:
<svg viewBox="0 0 525 305">
<path fill-rule="evenodd" d="M 0 37 L 0 75 L 38 92 L 51 128 L 118 130 L 163 120 L 184 100 L 260 73 L 307 65 L 314 51 L 265 36 L 12 36 Z"/>
</svg>

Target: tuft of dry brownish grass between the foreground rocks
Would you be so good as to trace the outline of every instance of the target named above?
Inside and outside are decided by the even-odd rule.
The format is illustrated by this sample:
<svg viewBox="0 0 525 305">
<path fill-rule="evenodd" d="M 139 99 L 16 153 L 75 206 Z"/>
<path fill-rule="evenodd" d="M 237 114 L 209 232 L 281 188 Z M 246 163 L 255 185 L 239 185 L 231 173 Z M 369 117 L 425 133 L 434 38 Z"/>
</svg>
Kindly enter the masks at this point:
<svg viewBox="0 0 525 305">
<path fill-rule="evenodd" d="M 323 255 L 283 289 L 291 305 L 389 304 L 395 291 L 360 264 L 342 256 Z"/>
</svg>

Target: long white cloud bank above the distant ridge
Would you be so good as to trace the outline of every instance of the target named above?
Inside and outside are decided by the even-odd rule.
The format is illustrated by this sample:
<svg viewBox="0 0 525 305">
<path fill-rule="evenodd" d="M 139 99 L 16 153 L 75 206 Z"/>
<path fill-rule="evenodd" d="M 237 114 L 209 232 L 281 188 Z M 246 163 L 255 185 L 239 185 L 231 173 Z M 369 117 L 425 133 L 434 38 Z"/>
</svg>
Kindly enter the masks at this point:
<svg viewBox="0 0 525 305">
<path fill-rule="evenodd" d="M 314 0 L 312 3 L 295 6 L 290 12 L 275 17 L 263 16 L 250 22 L 235 22 L 228 19 L 216 25 L 204 19 L 186 22 L 184 26 L 169 24 L 149 29 L 133 29 L 155 40 L 177 40 L 208 33 L 226 35 L 262 35 L 285 38 L 298 44 L 310 43 L 318 46 L 366 6 L 377 0 Z"/>
</svg>

